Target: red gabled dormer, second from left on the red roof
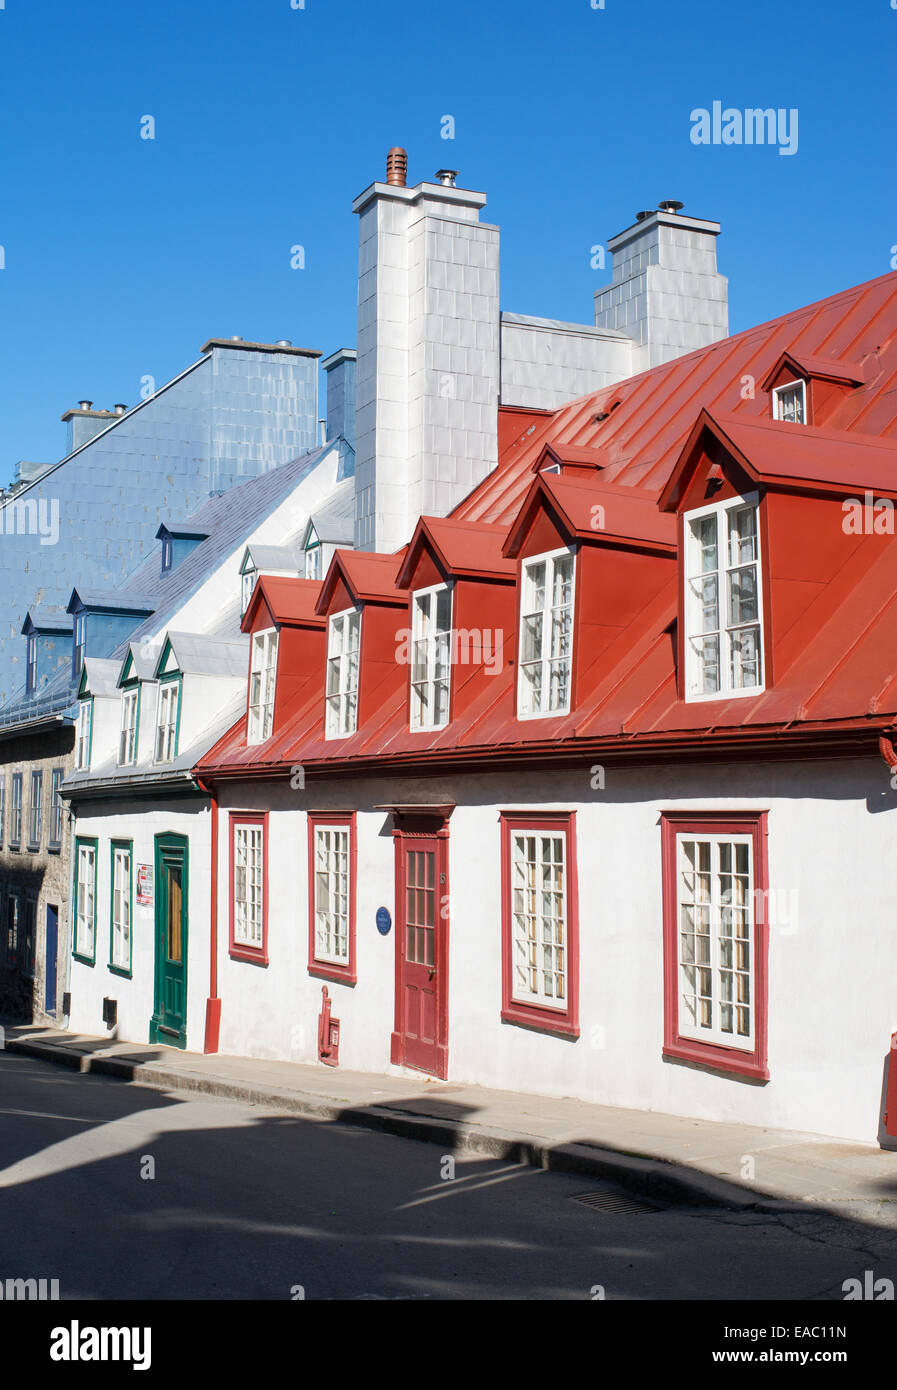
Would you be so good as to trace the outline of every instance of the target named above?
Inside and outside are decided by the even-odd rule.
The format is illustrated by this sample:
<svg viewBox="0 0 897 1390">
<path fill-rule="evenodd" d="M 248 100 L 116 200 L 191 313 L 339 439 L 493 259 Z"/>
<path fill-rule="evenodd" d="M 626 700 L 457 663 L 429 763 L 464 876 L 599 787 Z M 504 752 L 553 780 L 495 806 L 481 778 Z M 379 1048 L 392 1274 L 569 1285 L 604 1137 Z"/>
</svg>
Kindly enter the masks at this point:
<svg viewBox="0 0 897 1390">
<path fill-rule="evenodd" d="M 396 588 L 396 574 L 403 555 L 334 553 L 317 600 L 327 619 L 325 738 L 350 738 L 402 688 L 399 610 L 407 595 Z"/>
</svg>

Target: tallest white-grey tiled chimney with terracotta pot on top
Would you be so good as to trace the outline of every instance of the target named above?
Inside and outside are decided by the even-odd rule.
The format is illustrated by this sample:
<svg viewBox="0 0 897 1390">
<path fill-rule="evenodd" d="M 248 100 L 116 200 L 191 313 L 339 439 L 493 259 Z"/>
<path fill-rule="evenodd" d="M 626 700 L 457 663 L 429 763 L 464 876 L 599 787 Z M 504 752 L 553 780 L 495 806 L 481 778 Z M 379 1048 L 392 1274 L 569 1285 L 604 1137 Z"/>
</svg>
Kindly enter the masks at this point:
<svg viewBox="0 0 897 1390">
<path fill-rule="evenodd" d="M 403 150 L 359 214 L 356 546 L 395 550 L 498 461 L 499 231 L 485 193 L 405 186 Z"/>
</svg>

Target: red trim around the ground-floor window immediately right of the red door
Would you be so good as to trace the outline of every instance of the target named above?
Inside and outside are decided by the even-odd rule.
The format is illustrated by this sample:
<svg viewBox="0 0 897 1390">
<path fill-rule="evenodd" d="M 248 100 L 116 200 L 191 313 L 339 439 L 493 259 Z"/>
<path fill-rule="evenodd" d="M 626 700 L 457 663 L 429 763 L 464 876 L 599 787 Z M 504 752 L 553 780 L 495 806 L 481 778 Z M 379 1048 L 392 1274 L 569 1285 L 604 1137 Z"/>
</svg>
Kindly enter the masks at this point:
<svg viewBox="0 0 897 1390">
<path fill-rule="evenodd" d="M 580 923 L 579 883 L 576 862 L 576 812 L 542 810 L 501 812 L 502 826 L 502 1023 L 516 1023 L 556 1033 L 560 1037 L 580 1036 Z M 566 837 L 566 898 L 567 898 L 567 1006 L 552 1009 L 542 1004 L 523 1004 L 513 998 L 512 969 L 512 898 L 510 898 L 510 837 L 517 830 L 562 830 Z"/>
</svg>

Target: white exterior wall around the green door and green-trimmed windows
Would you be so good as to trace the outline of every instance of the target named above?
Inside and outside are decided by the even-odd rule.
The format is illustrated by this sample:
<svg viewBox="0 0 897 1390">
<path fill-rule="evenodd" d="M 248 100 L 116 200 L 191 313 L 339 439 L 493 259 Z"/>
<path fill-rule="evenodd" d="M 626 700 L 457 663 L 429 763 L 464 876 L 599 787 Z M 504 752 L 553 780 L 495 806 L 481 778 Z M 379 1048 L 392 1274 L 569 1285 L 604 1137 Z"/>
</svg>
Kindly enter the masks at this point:
<svg viewBox="0 0 897 1390">
<path fill-rule="evenodd" d="M 72 1005 L 68 1027 L 74 1033 L 103 1034 L 103 999 L 118 1001 L 118 1029 L 110 1033 L 127 1042 L 149 1042 L 154 1008 L 156 980 L 156 909 L 136 901 L 138 865 L 156 863 L 154 837 L 165 833 L 186 835 L 188 848 L 188 955 L 186 955 L 186 1047 L 202 1052 L 209 995 L 209 903 L 210 903 L 210 810 L 203 798 L 145 802 L 125 801 L 111 813 L 108 805 L 83 805 L 74 826 L 74 835 L 97 840 L 96 884 L 96 963 L 71 959 Z M 111 915 L 113 840 L 134 840 L 134 915 L 131 922 L 132 977 L 127 980 L 108 967 Z M 74 841 L 72 841 L 74 844 Z M 74 912 L 74 908 L 72 908 Z M 74 923 L 72 923 L 74 940 Z M 160 1047 L 161 1044 L 153 1044 Z"/>
</svg>

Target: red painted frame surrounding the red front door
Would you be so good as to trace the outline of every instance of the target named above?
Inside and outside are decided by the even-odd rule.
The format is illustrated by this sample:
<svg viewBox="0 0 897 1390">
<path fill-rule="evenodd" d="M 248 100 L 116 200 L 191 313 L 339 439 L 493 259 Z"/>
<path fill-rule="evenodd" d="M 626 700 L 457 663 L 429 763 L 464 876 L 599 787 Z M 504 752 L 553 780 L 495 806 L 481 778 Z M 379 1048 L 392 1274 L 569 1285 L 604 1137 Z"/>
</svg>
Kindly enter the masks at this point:
<svg viewBox="0 0 897 1390">
<path fill-rule="evenodd" d="M 451 815 L 451 812 L 449 812 Z M 439 1080 L 448 1076 L 449 1052 L 449 929 L 451 929 L 451 884 L 449 884 L 449 824 L 448 816 L 426 816 L 413 820 L 410 828 L 409 819 L 395 815 L 392 841 L 395 847 L 395 912 L 392 916 L 395 931 L 395 1027 L 389 1040 L 389 1061 L 395 1066 L 405 1066 L 405 1033 L 402 1015 L 402 962 L 405 958 L 405 847 L 406 841 L 435 840 L 437 841 L 437 884 L 439 891 L 439 930 L 435 938 L 435 967 L 439 980 L 437 997 L 437 1065 L 433 1074 Z M 402 823 L 403 821 L 403 823 Z M 419 828 L 430 821 L 433 828 Z M 414 1068 L 414 1070 L 420 1070 Z"/>
</svg>

